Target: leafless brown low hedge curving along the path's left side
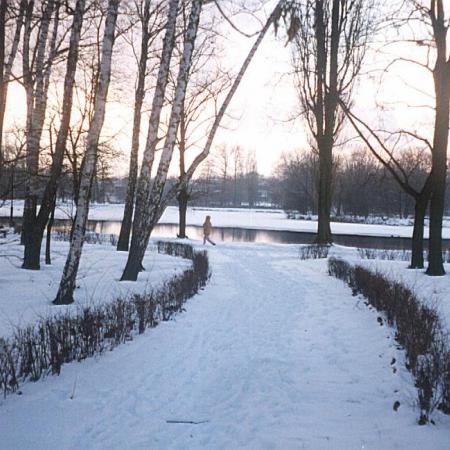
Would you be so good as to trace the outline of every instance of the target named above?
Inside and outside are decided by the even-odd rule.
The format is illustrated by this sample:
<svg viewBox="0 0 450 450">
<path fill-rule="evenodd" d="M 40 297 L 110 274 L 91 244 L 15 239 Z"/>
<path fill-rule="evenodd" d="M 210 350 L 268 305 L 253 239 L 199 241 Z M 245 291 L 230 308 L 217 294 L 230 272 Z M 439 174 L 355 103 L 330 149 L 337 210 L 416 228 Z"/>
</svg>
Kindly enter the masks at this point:
<svg viewBox="0 0 450 450">
<path fill-rule="evenodd" d="M 187 244 L 158 248 L 191 259 L 192 268 L 157 290 L 41 319 L 18 328 L 9 339 L 0 338 L 0 390 L 4 395 L 15 392 L 19 381 L 59 374 L 64 363 L 112 350 L 182 311 L 186 300 L 208 282 L 208 255 Z"/>
</svg>

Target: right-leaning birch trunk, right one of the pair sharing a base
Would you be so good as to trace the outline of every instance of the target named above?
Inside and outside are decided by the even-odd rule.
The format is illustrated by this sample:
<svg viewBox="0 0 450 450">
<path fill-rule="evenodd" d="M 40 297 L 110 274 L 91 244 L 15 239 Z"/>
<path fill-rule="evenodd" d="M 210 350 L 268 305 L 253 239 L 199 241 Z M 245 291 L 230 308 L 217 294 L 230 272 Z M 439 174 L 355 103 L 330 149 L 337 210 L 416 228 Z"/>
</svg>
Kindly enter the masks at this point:
<svg viewBox="0 0 450 450">
<path fill-rule="evenodd" d="M 127 264 L 122 274 L 122 280 L 136 281 L 148 240 L 153 229 L 155 218 L 158 216 L 163 190 L 166 184 L 167 173 L 172 160 L 173 150 L 177 138 L 178 126 L 180 124 L 181 111 L 186 95 L 189 70 L 192 62 L 192 55 L 197 37 L 200 13 L 202 11 L 203 0 L 193 0 L 189 23 L 184 37 L 183 54 L 181 56 L 180 68 L 177 76 L 175 88 L 175 98 L 172 111 L 170 113 L 169 125 L 167 129 L 164 148 L 159 161 L 158 171 L 153 180 L 152 189 L 148 196 L 139 196 L 136 201 L 136 213 L 133 223 L 133 236 L 131 239 L 130 252 Z"/>
</svg>

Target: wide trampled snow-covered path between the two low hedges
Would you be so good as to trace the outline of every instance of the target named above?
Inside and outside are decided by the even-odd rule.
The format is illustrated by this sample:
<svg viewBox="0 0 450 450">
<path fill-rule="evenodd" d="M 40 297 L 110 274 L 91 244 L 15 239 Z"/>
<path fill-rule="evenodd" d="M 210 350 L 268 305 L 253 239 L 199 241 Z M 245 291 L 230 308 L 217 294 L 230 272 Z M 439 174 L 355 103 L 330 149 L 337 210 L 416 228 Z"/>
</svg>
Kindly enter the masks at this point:
<svg viewBox="0 0 450 450">
<path fill-rule="evenodd" d="M 209 250 L 211 283 L 177 320 L 1 400 L 0 447 L 448 448 L 446 418 L 416 425 L 392 333 L 324 261 L 294 246 Z"/>
</svg>

